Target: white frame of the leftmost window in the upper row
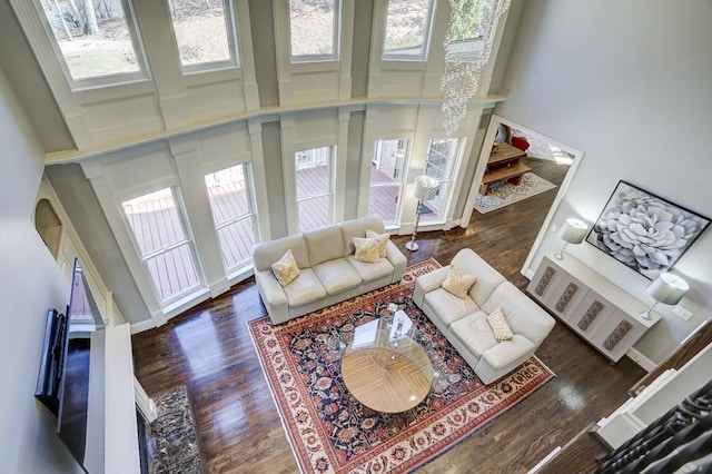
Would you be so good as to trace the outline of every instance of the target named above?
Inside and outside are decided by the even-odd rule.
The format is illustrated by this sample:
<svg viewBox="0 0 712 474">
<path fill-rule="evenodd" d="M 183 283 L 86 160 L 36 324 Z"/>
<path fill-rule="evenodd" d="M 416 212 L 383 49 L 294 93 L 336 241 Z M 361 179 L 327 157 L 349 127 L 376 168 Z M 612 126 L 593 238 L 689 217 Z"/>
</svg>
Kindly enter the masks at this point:
<svg viewBox="0 0 712 474">
<path fill-rule="evenodd" d="M 57 58 L 60 69 L 65 75 L 65 79 L 69 85 L 69 88 L 72 91 L 82 91 L 97 89 L 101 87 L 109 86 L 121 86 L 132 82 L 140 82 L 151 79 L 150 69 L 148 67 L 148 60 L 146 57 L 146 48 L 144 47 L 144 40 L 141 37 L 140 29 L 138 28 L 138 20 L 136 18 L 136 10 L 134 8 L 132 0 L 120 0 L 121 8 L 123 9 L 123 17 L 126 19 L 126 27 L 129 32 L 129 38 L 131 40 L 131 46 L 134 48 L 134 53 L 136 55 L 136 63 L 138 66 L 138 71 L 136 72 L 116 72 L 103 76 L 92 76 L 82 79 L 75 79 L 69 69 L 69 65 L 67 63 L 67 59 L 62 53 L 61 48 L 59 47 L 59 42 L 57 38 L 55 38 L 55 33 L 52 32 L 52 28 L 49 23 L 49 19 L 44 13 L 44 9 L 40 4 L 39 0 L 32 0 L 32 6 L 37 11 L 40 22 L 44 29 L 44 34 L 47 40 L 49 41 L 49 46 Z"/>
</svg>

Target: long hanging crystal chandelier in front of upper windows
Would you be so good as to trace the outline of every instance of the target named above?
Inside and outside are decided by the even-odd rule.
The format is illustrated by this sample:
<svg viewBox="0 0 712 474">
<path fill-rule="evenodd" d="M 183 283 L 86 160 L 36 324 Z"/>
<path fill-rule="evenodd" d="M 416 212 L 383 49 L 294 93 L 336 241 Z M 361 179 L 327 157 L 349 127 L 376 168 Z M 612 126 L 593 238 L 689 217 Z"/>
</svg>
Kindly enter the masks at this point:
<svg viewBox="0 0 712 474">
<path fill-rule="evenodd" d="M 482 70 L 490 60 L 500 16 L 511 0 L 449 0 L 452 16 L 445 36 L 445 96 L 443 126 L 448 137 L 467 113 L 467 100 L 477 93 Z"/>
</svg>

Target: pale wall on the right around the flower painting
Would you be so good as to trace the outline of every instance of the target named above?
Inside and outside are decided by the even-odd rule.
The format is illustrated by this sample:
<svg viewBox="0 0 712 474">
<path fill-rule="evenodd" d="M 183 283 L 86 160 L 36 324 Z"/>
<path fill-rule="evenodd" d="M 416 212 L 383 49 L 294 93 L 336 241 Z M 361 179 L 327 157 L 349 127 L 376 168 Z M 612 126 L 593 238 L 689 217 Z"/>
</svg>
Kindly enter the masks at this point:
<svg viewBox="0 0 712 474">
<path fill-rule="evenodd" d="M 712 3 L 525 2 L 496 113 L 585 155 L 554 224 L 595 221 L 620 179 L 712 218 Z M 560 246 L 547 233 L 534 258 Z M 645 304 L 649 280 L 589 244 L 567 250 Z M 711 316 L 712 229 L 674 271 L 692 287 L 684 322 L 663 320 L 635 348 L 661 362 Z"/>
</svg>

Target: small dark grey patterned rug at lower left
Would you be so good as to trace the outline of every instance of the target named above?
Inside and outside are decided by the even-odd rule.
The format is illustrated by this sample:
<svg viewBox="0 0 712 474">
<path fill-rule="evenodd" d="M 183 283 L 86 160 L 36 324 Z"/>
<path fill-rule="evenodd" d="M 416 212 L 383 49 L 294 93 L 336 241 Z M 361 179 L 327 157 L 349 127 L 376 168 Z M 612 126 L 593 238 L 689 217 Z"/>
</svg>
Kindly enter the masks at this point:
<svg viewBox="0 0 712 474">
<path fill-rule="evenodd" d="M 164 392 L 154 398 L 158 417 L 146 424 L 149 474 L 202 473 L 202 457 L 188 388 Z"/>
</svg>

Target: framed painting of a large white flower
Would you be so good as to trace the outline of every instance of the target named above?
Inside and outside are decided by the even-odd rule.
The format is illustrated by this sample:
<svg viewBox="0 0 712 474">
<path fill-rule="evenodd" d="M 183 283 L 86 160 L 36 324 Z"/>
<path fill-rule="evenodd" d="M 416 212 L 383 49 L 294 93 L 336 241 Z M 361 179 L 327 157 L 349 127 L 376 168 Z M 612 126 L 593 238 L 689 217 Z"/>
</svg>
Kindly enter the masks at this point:
<svg viewBox="0 0 712 474">
<path fill-rule="evenodd" d="M 619 181 L 586 241 L 650 279 L 669 269 L 710 220 Z"/>
</svg>

